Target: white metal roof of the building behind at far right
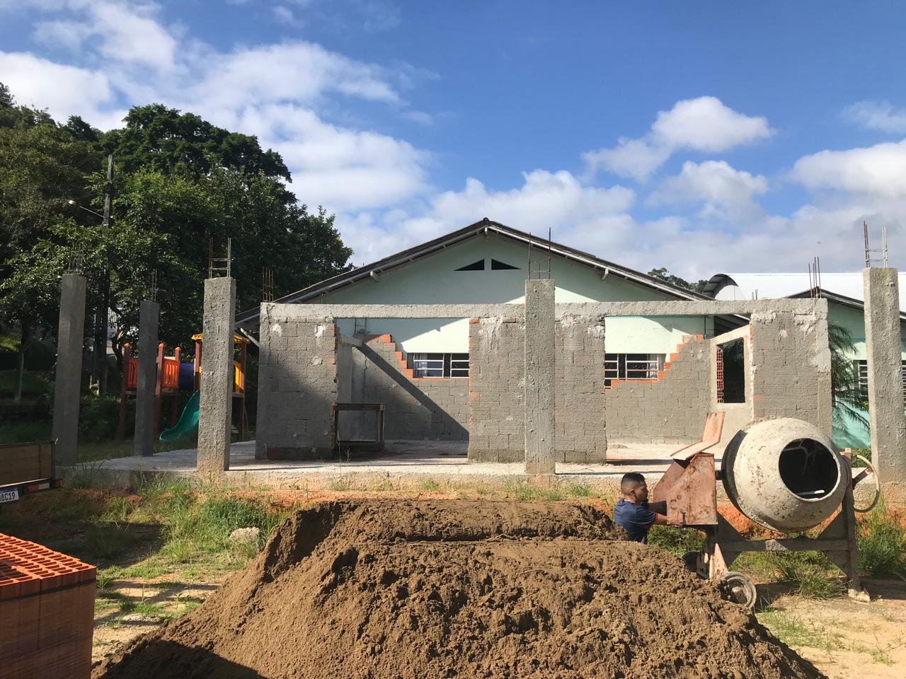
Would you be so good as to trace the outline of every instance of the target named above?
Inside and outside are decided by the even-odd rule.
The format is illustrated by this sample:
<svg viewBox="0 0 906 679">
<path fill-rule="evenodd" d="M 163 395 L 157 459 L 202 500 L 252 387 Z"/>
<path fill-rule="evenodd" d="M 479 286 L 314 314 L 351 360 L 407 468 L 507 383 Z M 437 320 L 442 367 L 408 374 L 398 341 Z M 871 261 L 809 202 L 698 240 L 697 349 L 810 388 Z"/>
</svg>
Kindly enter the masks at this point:
<svg viewBox="0 0 906 679">
<path fill-rule="evenodd" d="M 808 273 L 726 273 L 716 300 L 766 300 L 806 292 L 814 284 Z M 906 311 L 906 273 L 900 273 L 900 311 Z M 715 279 L 711 279 L 714 281 Z M 864 301 L 862 272 L 822 273 L 821 289 Z M 735 284 L 734 284 L 735 283 Z"/>
</svg>

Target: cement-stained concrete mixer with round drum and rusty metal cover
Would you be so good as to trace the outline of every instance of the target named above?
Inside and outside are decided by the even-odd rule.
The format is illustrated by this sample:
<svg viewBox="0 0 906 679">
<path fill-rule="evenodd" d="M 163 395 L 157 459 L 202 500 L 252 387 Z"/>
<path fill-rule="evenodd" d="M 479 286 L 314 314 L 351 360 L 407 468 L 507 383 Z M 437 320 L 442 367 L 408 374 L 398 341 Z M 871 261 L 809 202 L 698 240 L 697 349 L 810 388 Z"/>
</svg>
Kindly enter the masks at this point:
<svg viewBox="0 0 906 679">
<path fill-rule="evenodd" d="M 745 551 L 824 552 L 850 580 L 850 595 L 865 598 L 859 579 L 854 512 L 867 512 L 881 493 L 877 474 L 867 466 L 853 477 L 851 461 L 818 427 L 790 417 L 757 420 L 737 432 L 724 450 L 720 469 L 709 452 L 721 440 L 723 413 L 709 413 L 699 443 L 672 455 L 667 473 L 654 486 L 654 502 L 667 503 L 670 525 L 696 528 L 705 549 L 684 555 L 699 576 L 726 582 L 734 598 L 755 605 L 756 589 L 745 574 L 728 566 Z M 853 487 L 874 481 L 867 507 L 855 507 Z M 827 521 L 814 538 L 747 540 L 718 512 L 717 483 L 739 512 L 777 533 L 800 533 Z M 839 512 L 837 512 L 840 510 Z"/>
</svg>

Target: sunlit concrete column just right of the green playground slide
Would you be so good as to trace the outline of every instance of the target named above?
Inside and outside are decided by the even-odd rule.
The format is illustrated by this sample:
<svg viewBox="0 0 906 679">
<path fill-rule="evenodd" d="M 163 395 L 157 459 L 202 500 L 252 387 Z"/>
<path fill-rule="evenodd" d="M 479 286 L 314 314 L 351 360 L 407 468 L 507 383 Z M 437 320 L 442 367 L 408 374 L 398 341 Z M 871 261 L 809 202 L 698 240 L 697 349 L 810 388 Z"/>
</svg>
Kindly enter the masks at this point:
<svg viewBox="0 0 906 679">
<path fill-rule="evenodd" d="M 198 408 L 198 473 L 208 480 L 222 478 L 229 469 L 235 321 L 236 281 L 207 279 Z"/>
</svg>

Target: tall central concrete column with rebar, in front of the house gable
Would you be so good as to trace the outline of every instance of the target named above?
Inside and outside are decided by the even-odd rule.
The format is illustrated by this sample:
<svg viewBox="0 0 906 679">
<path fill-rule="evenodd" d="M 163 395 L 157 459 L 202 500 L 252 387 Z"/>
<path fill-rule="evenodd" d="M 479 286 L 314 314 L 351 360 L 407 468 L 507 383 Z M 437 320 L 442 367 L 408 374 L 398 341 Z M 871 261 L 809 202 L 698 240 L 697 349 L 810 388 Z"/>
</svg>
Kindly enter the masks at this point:
<svg viewBox="0 0 906 679">
<path fill-rule="evenodd" d="M 554 279 L 525 282 L 525 473 L 554 473 Z"/>
</svg>

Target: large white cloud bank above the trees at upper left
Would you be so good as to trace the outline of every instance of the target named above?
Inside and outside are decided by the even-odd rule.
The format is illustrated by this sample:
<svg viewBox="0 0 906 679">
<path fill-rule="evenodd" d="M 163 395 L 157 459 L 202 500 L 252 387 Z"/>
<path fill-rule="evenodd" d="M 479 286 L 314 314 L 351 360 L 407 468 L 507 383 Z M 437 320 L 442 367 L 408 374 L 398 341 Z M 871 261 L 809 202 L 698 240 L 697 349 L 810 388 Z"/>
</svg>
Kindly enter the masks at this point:
<svg viewBox="0 0 906 679">
<path fill-rule="evenodd" d="M 59 43 L 66 36 L 79 55 L 73 62 L 103 61 L 103 68 L 0 53 L 3 81 L 23 103 L 47 107 L 63 120 L 77 113 L 103 129 L 118 126 L 122 108 L 131 104 L 159 101 L 192 111 L 278 150 L 300 200 L 332 211 L 382 208 L 428 190 L 428 153 L 379 132 L 332 125 L 319 114 L 331 94 L 405 111 L 393 84 L 398 73 L 304 41 L 219 52 L 169 33 L 151 5 L 66 2 L 59 18 L 41 24 L 36 37 Z M 133 35 L 135 48 L 123 45 L 122 53 L 108 55 L 115 36 L 99 41 L 95 33 L 113 19 L 121 24 L 117 40 L 140 29 L 150 42 Z M 402 82 L 411 82 L 410 71 L 403 69 Z M 429 121 L 427 114 L 416 117 Z"/>
</svg>

